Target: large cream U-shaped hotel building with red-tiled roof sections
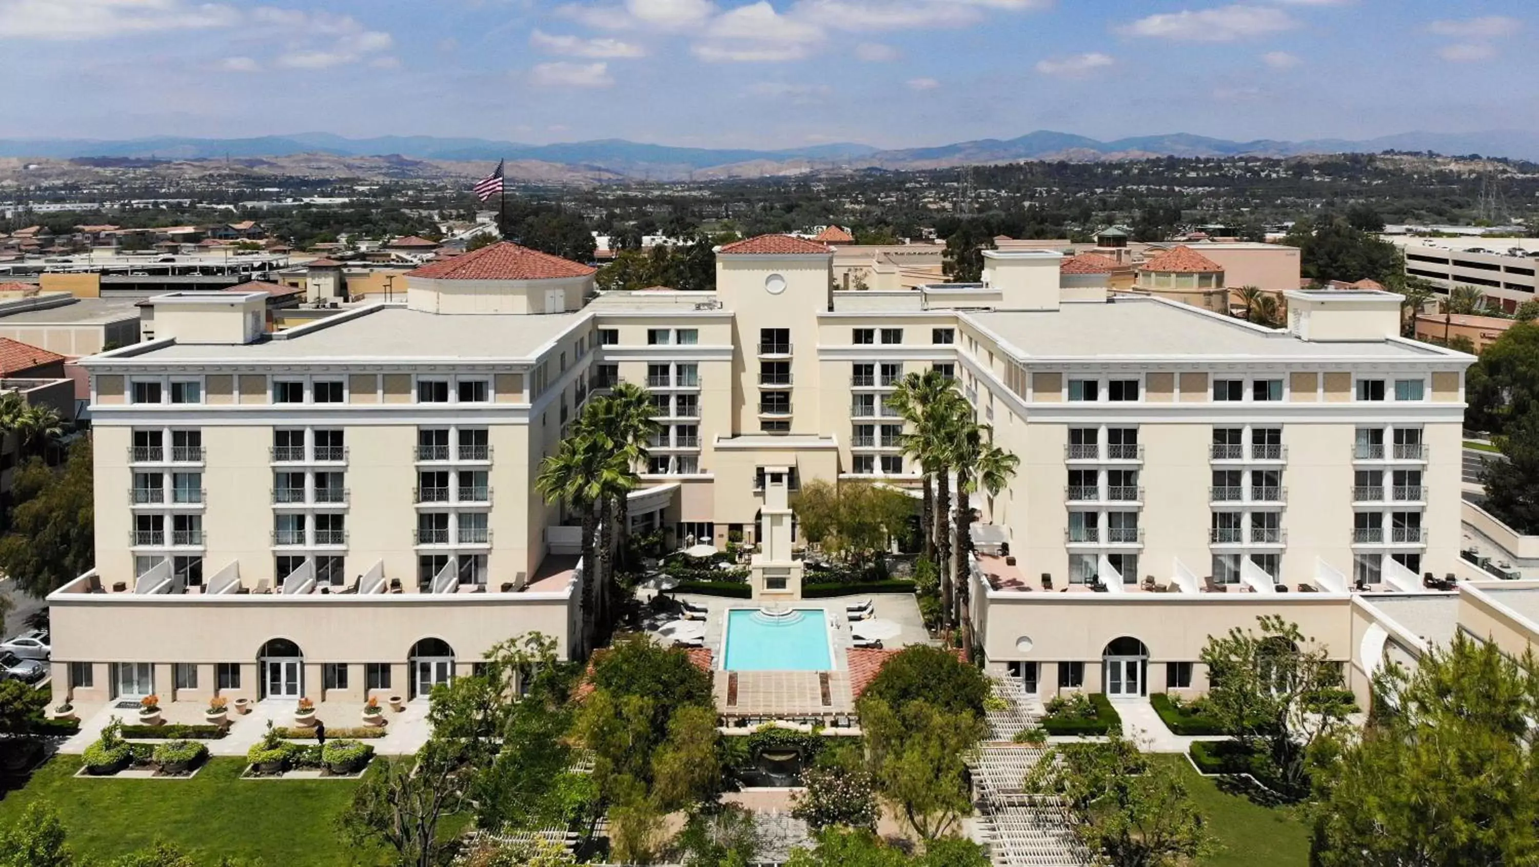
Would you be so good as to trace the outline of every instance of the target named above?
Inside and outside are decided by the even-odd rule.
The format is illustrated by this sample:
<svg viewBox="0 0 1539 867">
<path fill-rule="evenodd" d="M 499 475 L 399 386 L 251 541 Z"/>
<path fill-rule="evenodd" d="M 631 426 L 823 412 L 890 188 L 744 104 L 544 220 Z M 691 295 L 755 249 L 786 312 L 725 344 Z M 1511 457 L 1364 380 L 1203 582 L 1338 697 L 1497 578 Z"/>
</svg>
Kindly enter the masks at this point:
<svg viewBox="0 0 1539 867">
<path fill-rule="evenodd" d="M 529 630 L 577 653 L 577 521 L 532 482 L 619 380 L 660 423 L 636 527 L 720 545 L 759 537 L 766 479 L 913 485 L 885 399 L 954 376 L 1020 457 L 973 497 L 979 642 L 1039 695 L 1200 690 L 1207 636 L 1262 613 L 1348 664 L 1364 596 L 1465 576 L 1473 359 L 1400 339 L 1396 296 L 1293 291 L 1274 331 L 985 256 L 982 283 L 836 291 L 828 248 L 765 236 L 716 291 L 596 294 L 500 243 L 275 334 L 260 293 L 159 296 L 152 340 L 82 362 L 97 567 L 49 598 L 55 682 L 362 699 Z"/>
</svg>

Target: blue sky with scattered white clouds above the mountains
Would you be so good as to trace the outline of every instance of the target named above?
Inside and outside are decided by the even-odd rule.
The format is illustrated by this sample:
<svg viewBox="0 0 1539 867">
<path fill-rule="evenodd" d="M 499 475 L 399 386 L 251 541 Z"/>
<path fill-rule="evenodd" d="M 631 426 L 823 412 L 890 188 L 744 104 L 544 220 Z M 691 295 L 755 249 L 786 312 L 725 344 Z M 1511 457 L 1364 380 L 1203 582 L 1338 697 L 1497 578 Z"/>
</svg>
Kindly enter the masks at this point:
<svg viewBox="0 0 1539 867">
<path fill-rule="evenodd" d="M 1533 0 L 0 0 L 3 137 L 1539 131 Z"/>
</svg>

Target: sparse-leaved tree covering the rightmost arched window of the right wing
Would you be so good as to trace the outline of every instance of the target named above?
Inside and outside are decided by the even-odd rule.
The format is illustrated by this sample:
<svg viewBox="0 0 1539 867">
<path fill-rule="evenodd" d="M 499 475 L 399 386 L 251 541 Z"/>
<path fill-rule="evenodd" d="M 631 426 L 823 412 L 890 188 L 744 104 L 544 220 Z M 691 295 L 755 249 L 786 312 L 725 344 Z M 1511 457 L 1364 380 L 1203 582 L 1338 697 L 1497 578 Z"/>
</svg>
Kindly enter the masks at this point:
<svg viewBox="0 0 1539 867">
<path fill-rule="evenodd" d="M 1319 698 L 1340 687 L 1340 667 L 1325 645 L 1276 614 L 1256 618 L 1260 631 L 1231 628 L 1208 636 L 1208 713 L 1234 741 L 1268 765 L 1274 790 L 1308 788 L 1308 752 L 1339 725 L 1342 708 Z"/>
</svg>

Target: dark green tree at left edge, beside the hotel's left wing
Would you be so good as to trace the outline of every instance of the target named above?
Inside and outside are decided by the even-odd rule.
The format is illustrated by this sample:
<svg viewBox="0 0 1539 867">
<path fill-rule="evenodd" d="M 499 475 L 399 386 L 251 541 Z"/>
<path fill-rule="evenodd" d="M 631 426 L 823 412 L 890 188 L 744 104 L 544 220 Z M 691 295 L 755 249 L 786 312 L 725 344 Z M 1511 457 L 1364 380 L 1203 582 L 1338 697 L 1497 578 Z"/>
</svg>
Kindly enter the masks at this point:
<svg viewBox="0 0 1539 867">
<path fill-rule="evenodd" d="M 11 531 L 0 537 L 0 571 L 43 598 L 95 565 L 91 444 L 69 450 L 63 471 L 28 460 L 11 484 Z"/>
</svg>

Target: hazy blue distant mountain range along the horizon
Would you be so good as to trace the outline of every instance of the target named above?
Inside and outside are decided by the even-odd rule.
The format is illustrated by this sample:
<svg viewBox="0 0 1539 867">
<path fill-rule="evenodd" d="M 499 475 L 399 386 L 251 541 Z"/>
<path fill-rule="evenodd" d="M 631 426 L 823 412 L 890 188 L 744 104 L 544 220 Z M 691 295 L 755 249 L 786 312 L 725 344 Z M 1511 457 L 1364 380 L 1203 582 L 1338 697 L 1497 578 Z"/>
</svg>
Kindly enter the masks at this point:
<svg viewBox="0 0 1539 867">
<path fill-rule="evenodd" d="M 1402 132 L 1368 140 L 1316 139 L 1308 142 L 1254 140 L 1231 142 L 1176 132 L 1137 136 L 1102 142 L 1070 132 L 1036 131 L 1019 139 L 982 139 L 934 148 L 879 149 L 870 145 L 833 143 L 773 151 L 674 148 L 623 139 L 523 145 L 488 139 L 439 139 L 434 136 L 385 136 L 346 139 L 329 132 L 262 136 L 255 139 L 191 139 L 160 136 L 131 140 L 92 139 L 12 139 L 0 140 L 0 157 L 78 159 L 129 157 L 168 160 L 215 160 L 251 157 L 291 157 L 325 154 L 332 157 L 406 156 L 419 160 L 492 162 L 499 159 L 551 163 L 605 174 L 671 180 L 683 177 L 756 177 L 803 174 L 831 169 L 925 169 L 959 165 L 1008 163 L 1020 160 L 1125 160 L 1160 156 L 1174 157 L 1291 157 L 1304 154 L 1433 151 L 1439 154 L 1482 154 L 1539 162 L 1539 134 L 1524 131 L 1488 132 Z"/>
</svg>

